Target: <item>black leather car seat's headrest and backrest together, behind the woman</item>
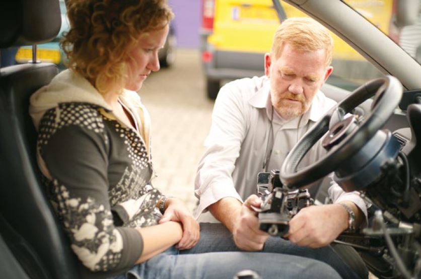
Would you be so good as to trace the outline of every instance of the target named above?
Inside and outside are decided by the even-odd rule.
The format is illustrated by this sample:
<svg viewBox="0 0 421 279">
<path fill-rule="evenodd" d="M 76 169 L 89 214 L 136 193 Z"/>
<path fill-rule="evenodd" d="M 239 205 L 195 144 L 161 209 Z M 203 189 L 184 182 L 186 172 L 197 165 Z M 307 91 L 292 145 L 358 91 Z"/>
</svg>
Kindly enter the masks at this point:
<svg viewBox="0 0 421 279">
<path fill-rule="evenodd" d="M 0 47 L 49 41 L 60 29 L 58 0 L 2 0 L 0 5 Z M 42 188 L 37 134 L 28 113 L 30 95 L 57 73 L 51 63 L 0 69 L 0 237 L 30 278 L 81 277 Z M 0 250 L 2 256 L 6 252 Z"/>
</svg>

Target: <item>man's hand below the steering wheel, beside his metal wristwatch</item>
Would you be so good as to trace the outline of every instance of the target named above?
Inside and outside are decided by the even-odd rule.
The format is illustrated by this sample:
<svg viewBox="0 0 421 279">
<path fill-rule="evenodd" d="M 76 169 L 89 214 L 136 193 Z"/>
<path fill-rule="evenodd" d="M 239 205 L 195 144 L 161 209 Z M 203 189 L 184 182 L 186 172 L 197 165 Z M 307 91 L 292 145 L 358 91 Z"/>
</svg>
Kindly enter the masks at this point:
<svg viewBox="0 0 421 279">
<path fill-rule="evenodd" d="M 348 213 L 342 205 L 312 205 L 293 217 L 286 237 L 300 246 L 318 248 L 330 244 L 347 227 Z"/>
</svg>

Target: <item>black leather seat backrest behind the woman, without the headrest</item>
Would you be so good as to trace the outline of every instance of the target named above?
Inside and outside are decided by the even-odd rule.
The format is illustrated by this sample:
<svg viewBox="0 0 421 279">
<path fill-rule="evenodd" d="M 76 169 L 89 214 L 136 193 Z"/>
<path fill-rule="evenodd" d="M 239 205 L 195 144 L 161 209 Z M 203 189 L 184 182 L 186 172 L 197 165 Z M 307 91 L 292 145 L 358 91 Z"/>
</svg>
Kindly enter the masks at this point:
<svg viewBox="0 0 421 279">
<path fill-rule="evenodd" d="M 69 264 L 73 254 L 40 183 L 37 135 L 28 113 L 29 96 L 48 84 L 57 68 L 41 63 L 1 71 L 0 233 L 31 278 L 76 278 Z"/>
</svg>

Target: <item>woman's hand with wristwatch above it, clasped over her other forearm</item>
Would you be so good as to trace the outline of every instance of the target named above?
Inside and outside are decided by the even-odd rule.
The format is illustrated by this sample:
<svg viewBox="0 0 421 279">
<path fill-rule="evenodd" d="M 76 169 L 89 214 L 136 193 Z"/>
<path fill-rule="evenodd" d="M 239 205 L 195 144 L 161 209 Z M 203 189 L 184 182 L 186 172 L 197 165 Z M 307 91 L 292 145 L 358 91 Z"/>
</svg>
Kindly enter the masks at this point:
<svg viewBox="0 0 421 279">
<path fill-rule="evenodd" d="M 175 247 L 180 250 L 190 249 L 199 241 L 199 224 L 181 200 L 177 198 L 169 198 L 167 203 L 167 208 L 163 217 L 159 221 L 159 224 L 168 221 L 181 222 L 183 226 L 183 237 Z"/>
</svg>

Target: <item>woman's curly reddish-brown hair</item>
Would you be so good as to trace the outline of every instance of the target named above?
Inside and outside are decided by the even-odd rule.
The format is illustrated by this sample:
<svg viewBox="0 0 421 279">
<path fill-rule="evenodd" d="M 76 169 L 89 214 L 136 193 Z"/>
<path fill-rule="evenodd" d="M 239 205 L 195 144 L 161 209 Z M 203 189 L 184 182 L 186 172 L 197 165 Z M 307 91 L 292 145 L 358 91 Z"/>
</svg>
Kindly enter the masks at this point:
<svg viewBox="0 0 421 279">
<path fill-rule="evenodd" d="M 165 0 L 67 0 L 66 7 L 71 28 L 60 42 L 66 65 L 101 94 L 122 92 L 128 50 L 174 17 Z"/>
</svg>

